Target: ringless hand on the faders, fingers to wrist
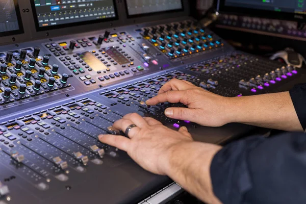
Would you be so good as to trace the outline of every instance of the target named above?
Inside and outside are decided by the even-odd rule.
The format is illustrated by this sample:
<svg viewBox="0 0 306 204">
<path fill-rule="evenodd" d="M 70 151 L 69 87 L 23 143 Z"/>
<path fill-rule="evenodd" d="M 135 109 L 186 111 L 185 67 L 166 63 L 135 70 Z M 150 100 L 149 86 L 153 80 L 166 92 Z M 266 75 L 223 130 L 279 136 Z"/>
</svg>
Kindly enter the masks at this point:
<svg viewBox="0 0 306 204">
<path fill-rule="evenodd" d="M 182 103 L 188 108 L 167 108 L 169 118 L 189 120 L 205 126 L 222 126 L 233 120 L 231 98 L 223 97 L 184 80 L 167 82 L 157 96 L 146 101 L 147 105 Z M 231 117 L 232 116 L 232 117 Z"/>
</svg>

